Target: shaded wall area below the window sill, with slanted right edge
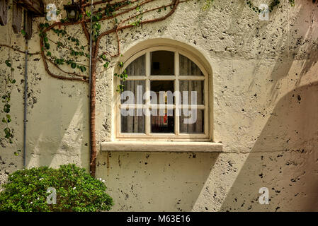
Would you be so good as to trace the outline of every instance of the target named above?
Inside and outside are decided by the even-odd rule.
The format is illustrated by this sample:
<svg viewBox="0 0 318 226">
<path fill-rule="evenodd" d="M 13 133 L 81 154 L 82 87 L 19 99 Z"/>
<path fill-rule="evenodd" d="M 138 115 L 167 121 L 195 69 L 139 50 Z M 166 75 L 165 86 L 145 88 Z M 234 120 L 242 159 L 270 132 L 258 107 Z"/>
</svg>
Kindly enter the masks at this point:
<svg viewBox="0 0 318 226">
<path fill-rule="evenodd" d="M 191 211 L 218 153 L 101 153 L 115 211 Z"/>
</svg>

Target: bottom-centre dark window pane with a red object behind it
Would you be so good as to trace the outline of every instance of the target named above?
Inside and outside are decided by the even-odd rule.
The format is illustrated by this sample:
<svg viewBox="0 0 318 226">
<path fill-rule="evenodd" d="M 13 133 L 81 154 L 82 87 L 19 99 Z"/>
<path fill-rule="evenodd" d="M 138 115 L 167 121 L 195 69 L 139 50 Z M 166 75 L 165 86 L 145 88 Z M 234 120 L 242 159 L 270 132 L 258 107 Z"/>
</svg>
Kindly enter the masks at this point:
<svg viewBox="0 0 318 226">
<path fill-rule="evenodd" d="M 151 133 L 174 133 L 174 110 L 151 109 Z"/>
</svg>

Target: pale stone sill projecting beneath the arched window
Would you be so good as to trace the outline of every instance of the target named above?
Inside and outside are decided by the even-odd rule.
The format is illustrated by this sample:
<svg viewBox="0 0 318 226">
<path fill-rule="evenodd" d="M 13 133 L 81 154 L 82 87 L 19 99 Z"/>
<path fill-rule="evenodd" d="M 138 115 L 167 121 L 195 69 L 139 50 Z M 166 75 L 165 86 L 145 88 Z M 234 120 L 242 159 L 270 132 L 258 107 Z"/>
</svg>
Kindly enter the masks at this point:
<svg viewBox="0 0 318 226">
<path fill-rule="evenodd" d="M 106 141 L 101 151 L 167 152 L 167 153 L 222 153 L 222 143 L 182 141 Z"/>
</svg>

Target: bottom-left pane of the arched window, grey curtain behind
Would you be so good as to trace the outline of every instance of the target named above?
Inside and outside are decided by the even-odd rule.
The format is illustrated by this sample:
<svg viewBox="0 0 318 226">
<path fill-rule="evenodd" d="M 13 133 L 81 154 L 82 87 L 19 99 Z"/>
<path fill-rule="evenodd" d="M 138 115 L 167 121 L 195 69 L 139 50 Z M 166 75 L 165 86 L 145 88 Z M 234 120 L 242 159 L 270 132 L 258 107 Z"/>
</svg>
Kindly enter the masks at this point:
<svg viewBox="0 0 318 226">
<path fill-rule="evenodd" d="M 142 109 L 120 109 L 121 133 L 144 133 Z"/>
</svg>

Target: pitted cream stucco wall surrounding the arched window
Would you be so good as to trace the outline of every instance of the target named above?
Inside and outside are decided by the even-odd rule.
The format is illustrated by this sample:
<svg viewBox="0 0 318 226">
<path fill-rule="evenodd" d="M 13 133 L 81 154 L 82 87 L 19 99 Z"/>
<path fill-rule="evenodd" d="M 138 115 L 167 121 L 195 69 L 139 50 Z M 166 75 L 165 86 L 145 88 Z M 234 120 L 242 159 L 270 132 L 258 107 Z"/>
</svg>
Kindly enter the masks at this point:
<svg viewBox="0 0 318 226">
<path fill-rule="evenodd" d="M 160 37 L 198 49 L 212 68 L 213 136 L 226 153 L 98 153 L 96 177 L 106 180 L 113 210 L 318 210 L 317 5 L 283 1 L 267 22 L 241 0 L 202 6 L 189 1 L 163 22 L 120 32 L 121 50 Z M 1 42 L 11 33 L 1 27 Z M 37 51 L 33 36 L 29 49 Z M 24 46 L 14 34 L 13 42 Z M 1 70 L 7 54 L 1 48 Z M 23 141 L 24 56 L 11 55 L 21 66 L 12 98 L 16 145 L 0 147 L 2 182 L 22 167 L 13 151 Z M 28 68 L 28 167 L 88 169 L 88 86 L 51 78 L 39 59 L 30 57 Z M 113 70 L 98 73 L 98 143 L 112 136 Z M 270 190 L 269 205 L 258 202 L 261 187 Z"/>
</svg>

